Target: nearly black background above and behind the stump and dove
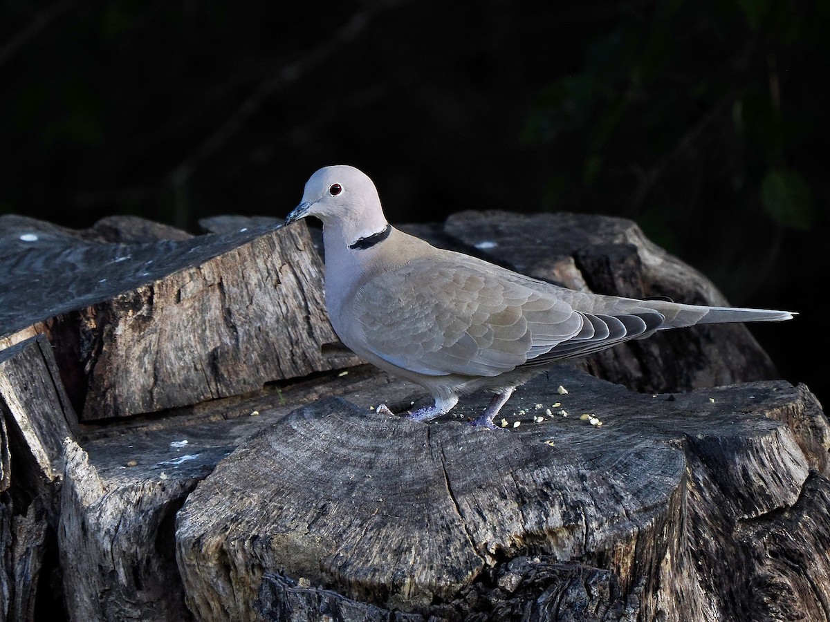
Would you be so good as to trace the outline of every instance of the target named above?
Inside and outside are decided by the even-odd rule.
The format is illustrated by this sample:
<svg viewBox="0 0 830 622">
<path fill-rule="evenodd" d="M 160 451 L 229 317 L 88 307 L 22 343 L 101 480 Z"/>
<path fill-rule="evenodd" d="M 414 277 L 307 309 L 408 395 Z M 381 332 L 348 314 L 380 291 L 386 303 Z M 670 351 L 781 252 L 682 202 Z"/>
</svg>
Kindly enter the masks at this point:
<svg viewBox="0 0 830 622">
<path fill-rule="evenodd" d="M 830 2 L 0 3 L 0 214 L 196 231 L 350 163 L 390 221 L 637 221 L 826 391 Z"/>
</svg>

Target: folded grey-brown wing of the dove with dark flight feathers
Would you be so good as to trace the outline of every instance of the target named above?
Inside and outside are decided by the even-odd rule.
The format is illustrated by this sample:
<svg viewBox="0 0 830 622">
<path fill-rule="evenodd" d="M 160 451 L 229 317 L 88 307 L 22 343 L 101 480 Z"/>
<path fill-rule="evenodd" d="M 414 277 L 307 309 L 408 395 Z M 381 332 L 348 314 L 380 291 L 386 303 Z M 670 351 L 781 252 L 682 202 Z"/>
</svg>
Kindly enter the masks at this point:
<svg viewBox="0 0 830 622">
<path fill-rule="evenodd" d="M 579 312 L 557 296 L 554 285 L 513 275 L 432 257 L 383 272 L 354 299 L 361 342 L 413 372 L 498 376 L 604 349 L 662 322 L 656 312 Z"/>
</svg>

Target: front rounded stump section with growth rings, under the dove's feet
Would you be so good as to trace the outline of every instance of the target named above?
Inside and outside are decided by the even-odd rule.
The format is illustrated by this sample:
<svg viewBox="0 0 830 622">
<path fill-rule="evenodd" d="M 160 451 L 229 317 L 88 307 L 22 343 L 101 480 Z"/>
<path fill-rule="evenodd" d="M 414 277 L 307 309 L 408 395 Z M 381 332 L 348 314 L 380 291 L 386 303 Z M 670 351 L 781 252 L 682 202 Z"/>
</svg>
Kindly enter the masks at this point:
<svg viewBox="0 0 830 622">
<path fill-rule="evenodd" d="M 505 560 L 530 554 L 610 571 L 624 598 L 637 596 L 644 620 L 730 617 L 728 605 L 713 609 L 710 595 L 721 588 L 696 568 L 715 562 L 706 542 L 742 546 L 751 557 L 756 543 L 740 529 L 774 529 L 802 498 L 809 469 L 830 447 L 814 398 L 778 382 L 666 400 L 564 367 L 555 376 L 516 391 L 512 406 L 527 412 L 506 415 L 500 433 L 368 415 L 338 400 L 263 430 L 178 514 L 188 606 L 213 619 L 256 619 L 251 603 L 271 571 L 427 615 L 486 583 Z M 536 403 L 556 402 L 568 417 L 533 420 Z M 813 421 L 818 438 L 789 427 L 793 410 Z M 603 425 L 580 420 L 585 412 Z M 706 519 L 713 512 L 722 518 L 715 525 Z M 827 535 L 818 538 L 830 544 Z M 756 570 L 742 569 L 739 580 L 754 581 Z M 809 581 L 812 571 L 796 575 Z"/>
</svg>

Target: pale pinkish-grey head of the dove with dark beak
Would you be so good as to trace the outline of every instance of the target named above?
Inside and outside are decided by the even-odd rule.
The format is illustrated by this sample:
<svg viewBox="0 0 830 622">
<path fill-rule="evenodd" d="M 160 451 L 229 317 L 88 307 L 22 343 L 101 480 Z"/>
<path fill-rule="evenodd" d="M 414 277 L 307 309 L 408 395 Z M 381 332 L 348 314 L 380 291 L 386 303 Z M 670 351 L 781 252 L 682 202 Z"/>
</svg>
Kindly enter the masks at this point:
<svg viewBox="0 0 830 622">
<path fill-rule="evenodd" d="M 339 234 L 349 245 L 388 226 L 374 183 L 349 166 L 320 168 L 305 182 L 303 199 L 286 218 L 286 225 L 305 216 L 323 222 L 324 236 Z"/>
</svg>

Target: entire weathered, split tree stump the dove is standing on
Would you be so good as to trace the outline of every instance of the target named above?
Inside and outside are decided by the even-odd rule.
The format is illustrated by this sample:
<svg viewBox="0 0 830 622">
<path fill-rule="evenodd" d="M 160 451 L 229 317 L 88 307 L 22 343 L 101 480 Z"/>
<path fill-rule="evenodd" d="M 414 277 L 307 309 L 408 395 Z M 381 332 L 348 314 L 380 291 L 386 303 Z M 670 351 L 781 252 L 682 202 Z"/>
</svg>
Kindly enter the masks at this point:
<svg viewBox="0 0 830 622">
<path fill-rule="evenodd" d="M 416 424 L 374 412 L 424 393 L 338 347 L 305 226 L 203 227 L 0 217 L 0 620 L 830 620 L 828 420 L 745 327 L 559 366 L 504 430 L 481 395 Z M 630 221 L 403 228 L 724 303 Z"/>
</svg>

